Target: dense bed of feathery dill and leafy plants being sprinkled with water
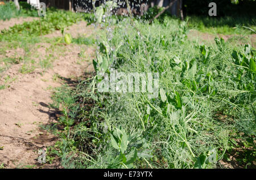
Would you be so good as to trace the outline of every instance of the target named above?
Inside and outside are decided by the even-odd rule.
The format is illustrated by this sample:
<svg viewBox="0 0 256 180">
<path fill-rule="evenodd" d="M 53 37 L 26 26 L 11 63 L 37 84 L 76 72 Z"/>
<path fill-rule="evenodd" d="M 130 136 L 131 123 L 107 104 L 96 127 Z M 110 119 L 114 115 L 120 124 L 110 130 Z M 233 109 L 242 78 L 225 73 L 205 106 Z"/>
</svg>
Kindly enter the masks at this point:
<svg viewBox="0 0 256 180">
<path fill-rule="evenodd" d="M 110 65 L 159 72 L 161 93 L 100 93 L 100 76 L 58 88 L 53 100 L 65 107 L 65 130 L 56 148 L 64 168 L 217 168 L 238 148 L 230 145 L 233 134 L 255 140 L 255 50 L 218 38 L 199 46 L 187 29 L 170 18 L 152 25 L 125 19 L 111 40 L 100 34 L 97 72 L 109 74 Z M 255 167 L 254 158 L 255 149 L 247 151 L 241 166 Z"/>
</svg>

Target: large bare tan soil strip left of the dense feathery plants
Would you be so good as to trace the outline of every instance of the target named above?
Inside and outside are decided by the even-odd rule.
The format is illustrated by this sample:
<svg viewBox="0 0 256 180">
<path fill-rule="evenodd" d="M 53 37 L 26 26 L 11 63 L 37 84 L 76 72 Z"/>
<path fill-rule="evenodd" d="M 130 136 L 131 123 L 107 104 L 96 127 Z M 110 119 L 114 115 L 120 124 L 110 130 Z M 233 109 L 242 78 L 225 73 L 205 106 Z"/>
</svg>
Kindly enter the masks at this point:
<svg viewBox="0 0 256 180">
<path fill-rule="evenodd" d="M 76 36 L 81 33 L 81 29 L 84 33 L 92 33 L 91 28 L 87 27 L 86 31 L 85 24 L 80 23 L 69 29 L 72 29 L 73 36 Z M 36 46 L 40 46 L 38 52 L 40 57 L 43 57 L 50 44 L 39 43 Z M 52 103 L 52 88 L 59 87 L 62 83 L 54 77 L 57 74 L 68 82 L 72 77 L 93 70 L 88 61 L 82 61 L 81 46 L 71 44 L 59 48 L 60 52 L 53 54 L 57 59 L 52 68 L 45 72 L 36 68 L 30 74 L 20 74 L 22 64 L 14 65 L 5 72 L 5 76 L 16 78 L 9 88 L 0 90 L 0 165 L 4 163 L 5 168 L 42 166 L 38 164 L 38 150 L 56 142 L 55 136 L 39 127 L 57 120 L 57 111 L 49 108 L 49 104 Z M 93 47 L 85 46 L 84 49 L 89 59 L 94 56 Z M 60 168 L 57 162 L 43 167 Z"/>
</svg>

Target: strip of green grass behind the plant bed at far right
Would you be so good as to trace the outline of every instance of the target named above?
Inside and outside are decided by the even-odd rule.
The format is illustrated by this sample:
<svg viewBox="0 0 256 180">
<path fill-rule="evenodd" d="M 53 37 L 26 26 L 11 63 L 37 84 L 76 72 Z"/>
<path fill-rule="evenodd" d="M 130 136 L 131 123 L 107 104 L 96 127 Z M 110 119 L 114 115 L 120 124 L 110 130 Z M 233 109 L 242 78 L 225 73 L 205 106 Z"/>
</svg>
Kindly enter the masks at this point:
<svg viewBox="0 0 256 180">
<path fill-rule="evenodd" d="M 220 33 L 224 35 L 233 35 L 240 34 L 242 30 L 246 30 L 247 33 L 253 34 L 256 31 L 256 22 L 255 17 L 250 16 L 225 16 L 221 18 L 191 16 L 188 17 L 188 27 L 213 34 Z"/>
</svg>

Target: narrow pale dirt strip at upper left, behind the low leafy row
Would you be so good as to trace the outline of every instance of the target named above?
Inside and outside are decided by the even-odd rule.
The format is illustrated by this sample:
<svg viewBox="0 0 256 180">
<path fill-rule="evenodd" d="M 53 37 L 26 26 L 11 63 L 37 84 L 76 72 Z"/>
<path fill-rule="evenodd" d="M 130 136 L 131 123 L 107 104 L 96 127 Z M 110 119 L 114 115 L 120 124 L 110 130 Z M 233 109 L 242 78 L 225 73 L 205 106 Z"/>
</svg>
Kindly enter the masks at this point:
<svg viewBox="0 0 256 180">
<path fill-rule="evenodd" d="M 13 27 L 15 24 L 22 24 L 24 22 L 32 22 L 38 18 L 28 17 L 28 18 L 12 18 L 10 20 L 0 20 L 0 32 L 3 29 L 8 29 L 9 27 Z"/>
</svg>

